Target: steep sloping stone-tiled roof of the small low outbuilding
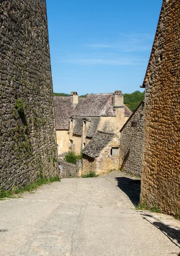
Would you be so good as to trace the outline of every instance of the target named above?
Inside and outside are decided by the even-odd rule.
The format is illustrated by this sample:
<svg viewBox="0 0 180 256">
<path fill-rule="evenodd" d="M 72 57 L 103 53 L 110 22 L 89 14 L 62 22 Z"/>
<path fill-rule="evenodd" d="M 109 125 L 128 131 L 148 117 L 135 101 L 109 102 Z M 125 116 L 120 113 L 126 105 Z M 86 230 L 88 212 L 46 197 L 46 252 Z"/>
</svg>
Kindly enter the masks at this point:
<svg viewBox="0 0 180 256">
<path fill-rule="evenodd" d="M 117 135 L 97 131 L 92 140 L 85 146 L 82 153 L 89 157 L 98 157 L 103 148 L 113 140 L 113 137 L 117 137 Z"/>
</svg>

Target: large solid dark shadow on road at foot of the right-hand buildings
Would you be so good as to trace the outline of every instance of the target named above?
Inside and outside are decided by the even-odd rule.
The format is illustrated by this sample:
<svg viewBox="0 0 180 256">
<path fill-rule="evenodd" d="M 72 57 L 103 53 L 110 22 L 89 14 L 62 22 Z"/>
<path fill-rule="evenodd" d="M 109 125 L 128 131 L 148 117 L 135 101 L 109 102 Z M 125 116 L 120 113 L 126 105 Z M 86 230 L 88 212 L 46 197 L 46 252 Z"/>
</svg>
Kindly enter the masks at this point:
<svg viewBox="0 0 180 256">
<path fill-rule="evenodd" d="M 141 193 L 141 180 L 133 180 L 127 177 L 116 177 L 118 187 L 126 193 L 132 204 L 138 205 Z"/>
</svg>

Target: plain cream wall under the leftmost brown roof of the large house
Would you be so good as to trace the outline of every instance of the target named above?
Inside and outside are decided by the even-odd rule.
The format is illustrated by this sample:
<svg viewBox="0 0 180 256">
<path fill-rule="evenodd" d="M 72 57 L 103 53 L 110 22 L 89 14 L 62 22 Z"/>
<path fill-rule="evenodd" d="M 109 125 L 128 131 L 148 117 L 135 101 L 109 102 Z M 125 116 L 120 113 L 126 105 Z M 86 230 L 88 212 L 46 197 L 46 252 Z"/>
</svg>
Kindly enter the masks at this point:
<svg viewBox="0 0 180 256">
<path fill-rule="evenodd" d="M 58 145 L 58 155 L 65 155 L 69 151 L 69 134 L 68 130 L 56 130 Z"/>
</svg>

